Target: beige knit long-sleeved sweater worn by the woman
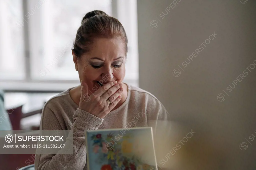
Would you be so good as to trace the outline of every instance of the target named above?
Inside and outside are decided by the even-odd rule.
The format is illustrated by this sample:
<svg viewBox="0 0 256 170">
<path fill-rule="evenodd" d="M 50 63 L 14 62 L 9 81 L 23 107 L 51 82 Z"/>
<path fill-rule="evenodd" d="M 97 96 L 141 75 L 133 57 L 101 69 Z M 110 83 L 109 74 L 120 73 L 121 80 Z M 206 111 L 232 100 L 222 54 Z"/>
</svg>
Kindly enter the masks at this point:
<svg viewBox="0 0 256 170">
<path fill-rule="evenodd" d="M 41 154 L 35 157 L 35 169 L 87 169 L 85 131 L 109 128 L 151 126 L 166 120 L 168 112 L 151 93 L 128 85 L 125 102 L 100 119 L 80 110 L 68 89 L 51 98 L 42 111 L 40 130 L 73 130 L 73 154 Z M 159 122 L 158 122 L 159 124 Z"/>
</svg>

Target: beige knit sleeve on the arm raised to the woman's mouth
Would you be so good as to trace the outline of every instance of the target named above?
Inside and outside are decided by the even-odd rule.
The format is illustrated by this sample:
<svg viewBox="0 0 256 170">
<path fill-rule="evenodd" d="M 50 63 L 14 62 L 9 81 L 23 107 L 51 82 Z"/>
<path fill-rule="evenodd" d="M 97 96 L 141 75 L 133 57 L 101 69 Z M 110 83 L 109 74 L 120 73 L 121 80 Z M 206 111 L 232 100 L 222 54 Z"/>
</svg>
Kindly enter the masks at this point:
<svg viewBox="0 0 256 170">
<path fill-rule="evenodd" d="M 102 122 L 103 119 L 77 109 L 73 115 L 73 125 L 70 129 L 73 131 L 73 136 L 69 135 L 65 142 L 65 147 L 73 144 L 73 154 L 36 155 L 35 169 L 83 169 L 86 165 L 85 131 L 97 130 Z M 55 113 L 47 105 L 42 111 L 40 130 L 63 130 Z M 72 138 L 73 143 L 70 140 Z M 65 147 L 61 150 L 65 150 Z"/>
</svg>

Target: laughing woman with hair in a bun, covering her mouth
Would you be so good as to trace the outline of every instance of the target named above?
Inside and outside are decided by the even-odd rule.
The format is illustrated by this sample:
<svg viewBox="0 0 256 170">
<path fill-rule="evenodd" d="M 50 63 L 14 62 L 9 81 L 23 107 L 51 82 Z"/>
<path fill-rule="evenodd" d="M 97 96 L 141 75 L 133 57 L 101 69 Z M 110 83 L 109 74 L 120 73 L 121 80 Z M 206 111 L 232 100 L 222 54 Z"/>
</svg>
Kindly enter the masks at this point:
<svg viewBox="0 0 256 170">
<path fill-rule="evenodd" d="M 154 95 L 123 83 L 127 42 L 122 24 L 103 11 L 83 17 L 72 49 L 81 84 L 51 98 L 40 123 L 40 130 L 73 130 L 74 153 L 36 155 L 36 169 L 87 169 L 87 130 L 156 127 L 167 120 Z"/>
</svg>

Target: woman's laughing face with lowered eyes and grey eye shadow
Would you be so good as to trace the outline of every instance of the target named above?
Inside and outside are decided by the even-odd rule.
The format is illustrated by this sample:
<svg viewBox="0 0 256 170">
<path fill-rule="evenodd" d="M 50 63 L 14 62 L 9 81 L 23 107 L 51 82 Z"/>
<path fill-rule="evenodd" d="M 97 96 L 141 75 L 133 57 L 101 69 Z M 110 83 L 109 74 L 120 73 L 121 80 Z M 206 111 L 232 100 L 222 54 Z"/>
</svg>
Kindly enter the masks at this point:
<svg viewBox="0 0 256 170">
<path fill-rule="evenodd" d="M 89 94 L 96 92 L 100 86 L 98 82 L 106 84 L 116 80 L 121 83 L 125 76 L 125 44 L 121 39 L 96 39 L 90 52 L 73 60 L 80 81 L 87 83 Z"/>
</svg>

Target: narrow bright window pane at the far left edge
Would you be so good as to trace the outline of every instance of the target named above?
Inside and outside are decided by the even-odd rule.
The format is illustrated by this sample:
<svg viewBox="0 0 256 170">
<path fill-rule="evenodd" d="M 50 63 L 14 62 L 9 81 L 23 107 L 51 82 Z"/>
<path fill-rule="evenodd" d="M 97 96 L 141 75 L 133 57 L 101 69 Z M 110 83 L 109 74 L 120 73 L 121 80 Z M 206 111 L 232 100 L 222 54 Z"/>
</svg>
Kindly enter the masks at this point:
<svg viewBox="0 0 256 170">
<path fill-rule="evenodd" d="M 21 0 L 0 0 L 0 79 L 24 79 Z"/>
</svg>

